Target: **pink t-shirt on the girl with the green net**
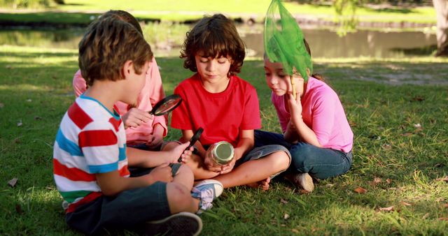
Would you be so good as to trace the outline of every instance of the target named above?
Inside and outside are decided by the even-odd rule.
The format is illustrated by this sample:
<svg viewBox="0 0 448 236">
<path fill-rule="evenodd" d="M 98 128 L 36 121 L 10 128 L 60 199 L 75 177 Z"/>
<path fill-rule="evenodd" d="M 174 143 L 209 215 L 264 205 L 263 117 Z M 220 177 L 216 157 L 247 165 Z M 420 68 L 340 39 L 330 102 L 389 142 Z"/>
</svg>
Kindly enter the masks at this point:
<svg viewBox="0 0 448 236">
<path fill-rule="evenodd" d="M 335 91 L 325 82 L 309 77 L 301 101 L 303 121 L 316 133 L 322 147 L 350 152 L 353 147 L 353 132 Z M 274 93 L 272 104 L 284 133 L 291 117 L 286 110 L 288 104 L 285 103 L 284 96 L 276 96 Z"/>
</svg>

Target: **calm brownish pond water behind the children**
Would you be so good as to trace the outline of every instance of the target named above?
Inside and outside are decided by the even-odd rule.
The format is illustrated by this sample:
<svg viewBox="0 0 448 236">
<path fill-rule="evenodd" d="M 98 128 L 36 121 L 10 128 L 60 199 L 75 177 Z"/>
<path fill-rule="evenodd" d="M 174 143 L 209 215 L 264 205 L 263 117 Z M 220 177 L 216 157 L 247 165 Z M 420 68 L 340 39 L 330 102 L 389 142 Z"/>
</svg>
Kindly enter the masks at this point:
<svg viewBox="0 0 448 236">
<path fill-rule="evenodd" d="M 145 26 L 151 27 L 151 26 Z M 188 26 L 191 27 L 191 26 Z M 164 36 L 164 42 L 151 42 L 157 57 L 179 57 L 181 40 L 189 29 L 178 30 L 172 40 Z M 160 29 L 158 29 L 160 32 Z M 76 49 L 85 29 L 69 30 L 0 30 L 0 45 L 29 45 L 51 48 Z M 172 31 L 167 29 L 167 31 Z M 241 38 L 248 48 L 248 56 L 262 57 L 262 26 L 242 25 L 238 27 Z M 436 49 L 435 34 L 422 31 L 372 31 L 358 30 L 339 37 L 330 29 L 303 29 L 311 47 L 312 56 L 337 57 L 407 57 L 430 55 Z M 170 34 L 173 34 L 172 32 Z M 148 37 L 146 37 L 148 39 Z"/>
</svg>

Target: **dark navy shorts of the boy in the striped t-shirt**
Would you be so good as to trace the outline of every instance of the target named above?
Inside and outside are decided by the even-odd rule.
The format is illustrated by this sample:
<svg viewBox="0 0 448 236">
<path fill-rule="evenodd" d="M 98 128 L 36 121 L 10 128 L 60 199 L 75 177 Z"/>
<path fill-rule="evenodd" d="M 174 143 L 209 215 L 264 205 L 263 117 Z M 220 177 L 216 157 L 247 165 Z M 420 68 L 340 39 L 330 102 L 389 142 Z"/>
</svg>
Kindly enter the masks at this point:
<svg viewBox="0 0 448 236">
<path fill-rule="evenodd" d="M 181 164 L 171 164 L 173 176 Z M 153 168 L 139 169 L 139 175 Z M 137 175 L 137 176 L 139 176 Z M 171 215 L 167 198 L 167 183 L 123 191 L 118 196 L 99 198 L 80 205 L 65 216 L 66 223 L 87 234 L 102 233 L 104 229 L 135 229 L 141 223 L 163 219 Z"/>
</svg>

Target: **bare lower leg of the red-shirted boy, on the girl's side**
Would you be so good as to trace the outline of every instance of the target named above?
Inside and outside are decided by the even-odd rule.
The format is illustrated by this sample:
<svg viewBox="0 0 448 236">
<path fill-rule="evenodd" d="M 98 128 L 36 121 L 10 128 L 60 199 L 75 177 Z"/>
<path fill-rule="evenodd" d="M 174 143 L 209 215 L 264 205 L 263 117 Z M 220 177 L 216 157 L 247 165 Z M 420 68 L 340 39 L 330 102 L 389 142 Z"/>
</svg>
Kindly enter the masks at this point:
<svg viewBox="0 0 448 236">
<path fill-rule="evenodd" d="M 219 175 L 214 179 L 221 182 L 224 188 L 253 184 L 269 178 L 289 165 L 289 156 L 286 152 L 274 152 L 263 158 L 247 161 L 225 175 Z M 269 184 L 269 183 L 267 183 Z"/>
</svg>

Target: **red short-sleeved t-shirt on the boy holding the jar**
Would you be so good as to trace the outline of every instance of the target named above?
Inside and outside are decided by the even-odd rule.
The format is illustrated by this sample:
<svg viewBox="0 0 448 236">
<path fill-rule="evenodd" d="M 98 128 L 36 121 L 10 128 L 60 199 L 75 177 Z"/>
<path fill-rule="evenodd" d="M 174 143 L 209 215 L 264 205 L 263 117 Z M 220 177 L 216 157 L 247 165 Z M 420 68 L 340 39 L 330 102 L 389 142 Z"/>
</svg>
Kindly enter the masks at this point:
<svg viewBox="0 0 448 236">
<path fill-rule="evenodd" d="M 212 145 L 227 141 L 237 147 L 239 131 L 261 128 L 260 106 L 255 88 L 236 75 L 227 89 L 212 94 L 202 87 L 199 75 L 183 80 L 174 94 L 183 101 L 174 109 L 172 128 L 197 131 L 204 128 L 200 142 Z"/>
</svg>

